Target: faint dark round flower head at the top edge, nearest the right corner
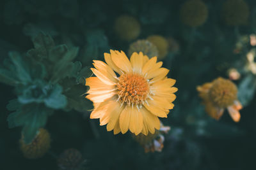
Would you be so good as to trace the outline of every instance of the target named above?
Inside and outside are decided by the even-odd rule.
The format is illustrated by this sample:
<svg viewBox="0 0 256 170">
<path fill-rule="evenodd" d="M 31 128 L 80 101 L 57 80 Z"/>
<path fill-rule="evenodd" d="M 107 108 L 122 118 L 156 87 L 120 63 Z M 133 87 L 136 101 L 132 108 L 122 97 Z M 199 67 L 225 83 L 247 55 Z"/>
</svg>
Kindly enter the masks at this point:
<svg viewBox="0 0 256 170">
<path fill-rule="evenodd" d="M 246 24 L 250 10 L 244 0 L 227 0 L 223 4 L 223 17 L 227 25 Z"/>
</svg>

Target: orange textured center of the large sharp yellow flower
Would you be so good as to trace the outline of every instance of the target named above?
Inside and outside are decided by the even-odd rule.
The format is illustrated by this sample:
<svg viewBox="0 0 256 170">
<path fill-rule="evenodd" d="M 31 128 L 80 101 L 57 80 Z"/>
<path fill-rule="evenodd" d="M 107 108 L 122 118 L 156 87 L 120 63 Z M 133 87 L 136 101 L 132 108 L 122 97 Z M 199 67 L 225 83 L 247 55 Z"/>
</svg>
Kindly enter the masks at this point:
<svg viewBox="0 0 256 170">
<path fill-rule="evenodd" d="M 122 74 L 117 83 L 118 100 L 129 105 L 141 105 L 148 96 L 148 82 L 139 74 Z"/>
</svg>

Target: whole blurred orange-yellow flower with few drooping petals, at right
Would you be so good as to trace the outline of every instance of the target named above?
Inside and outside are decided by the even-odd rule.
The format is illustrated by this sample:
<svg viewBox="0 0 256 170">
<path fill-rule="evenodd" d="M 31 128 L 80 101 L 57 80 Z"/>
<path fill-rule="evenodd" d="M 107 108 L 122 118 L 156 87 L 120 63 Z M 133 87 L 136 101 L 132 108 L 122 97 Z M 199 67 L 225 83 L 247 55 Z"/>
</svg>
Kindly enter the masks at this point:
<svg viewBox="0 0 256 170">
<path fill-rule="evenodd" d="M 237 87 L 232 81 L 217 78 L 211 83 L 198 86 L 197 90 L 199 96 L 204 99 L 205 111 L 210 117 L 219 120 L 227 108 L 234 122 L 239 122 L 239 110 L 242 109 L 242 105 L 237 101 Z"/>
</svg>

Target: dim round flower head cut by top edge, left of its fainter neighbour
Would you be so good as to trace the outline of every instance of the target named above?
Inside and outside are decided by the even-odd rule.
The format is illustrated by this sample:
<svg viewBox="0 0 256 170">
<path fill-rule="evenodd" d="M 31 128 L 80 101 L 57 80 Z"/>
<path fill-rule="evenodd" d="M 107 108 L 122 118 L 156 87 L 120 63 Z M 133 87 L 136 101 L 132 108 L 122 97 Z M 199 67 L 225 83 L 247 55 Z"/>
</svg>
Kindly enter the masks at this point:
<svg viewBox="0 0 256 170">
<path fill-rule="evenodd" d="M 180 19 L 190 27 L 203 25 L 208 17 L 208 9 L 201 0 L 188 0 L 180 9 Z"/>
</svg>

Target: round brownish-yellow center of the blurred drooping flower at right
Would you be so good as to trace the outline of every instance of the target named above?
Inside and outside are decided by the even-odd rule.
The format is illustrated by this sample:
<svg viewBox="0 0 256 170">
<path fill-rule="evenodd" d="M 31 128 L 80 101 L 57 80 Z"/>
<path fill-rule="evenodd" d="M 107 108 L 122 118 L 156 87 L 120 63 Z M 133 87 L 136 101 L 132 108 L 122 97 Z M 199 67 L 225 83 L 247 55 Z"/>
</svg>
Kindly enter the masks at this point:
<svg viewBox="0 0 256 170">
<path fill-rule="evenodd" d="M 230 80 L 217 78 L 212 82 L 209 98 L 216 106 L 226 108 L 236 101 L 237 87 Z"/>
</svg>

